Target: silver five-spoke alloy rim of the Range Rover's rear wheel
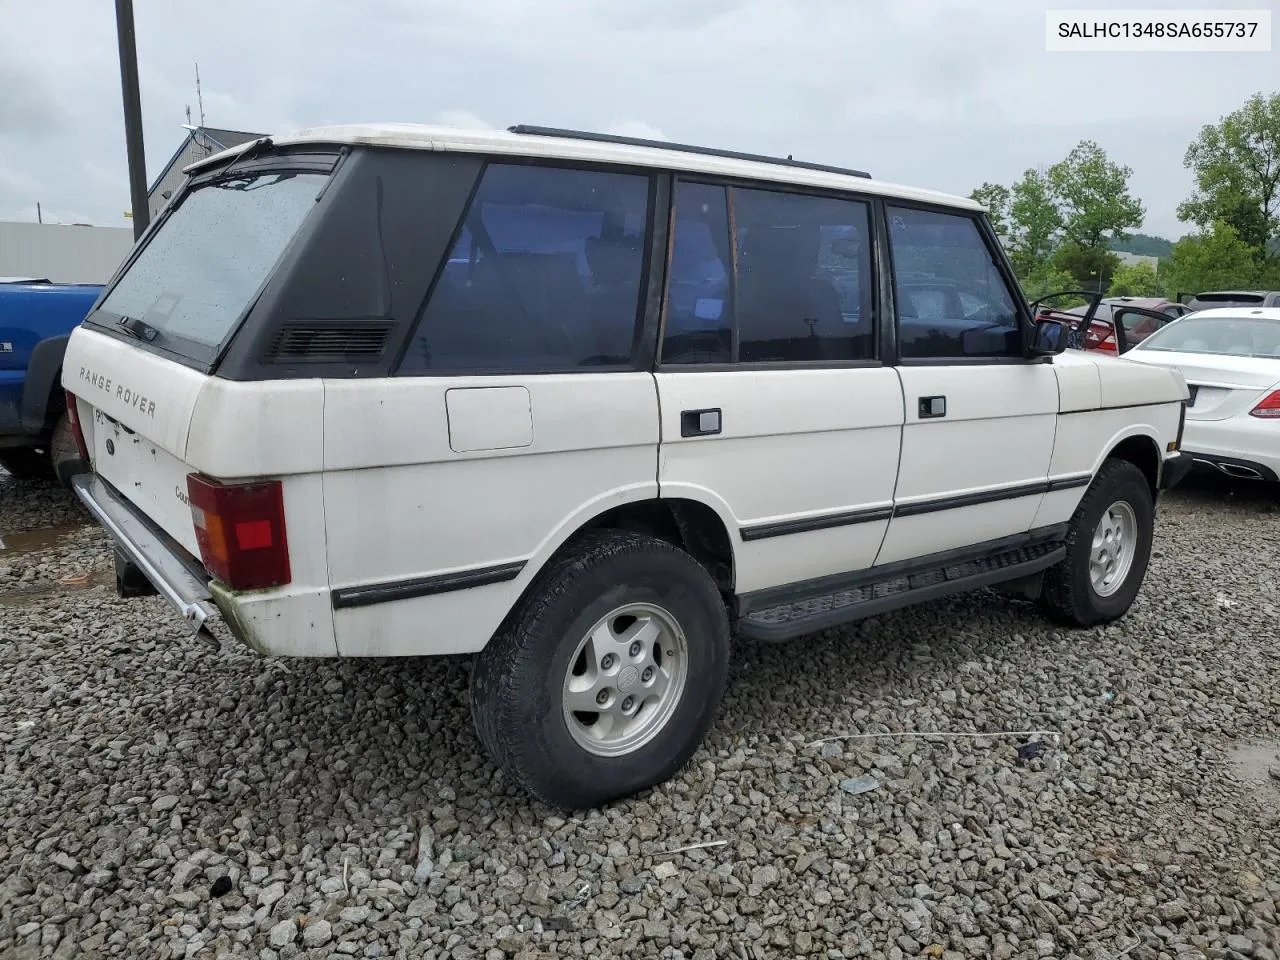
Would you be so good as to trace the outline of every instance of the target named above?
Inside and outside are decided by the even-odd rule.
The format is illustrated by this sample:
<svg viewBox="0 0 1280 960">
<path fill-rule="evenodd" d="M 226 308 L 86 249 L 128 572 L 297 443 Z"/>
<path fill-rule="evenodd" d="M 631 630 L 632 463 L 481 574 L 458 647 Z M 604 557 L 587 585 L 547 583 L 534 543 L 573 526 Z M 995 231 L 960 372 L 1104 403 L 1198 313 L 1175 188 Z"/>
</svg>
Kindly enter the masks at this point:
<svg viewBox="0 0 1280 960">
<path fill-rule="evenodd" d="M 598 756 L 639 750 L 675 713 L 687 668 L 685 632 L 668 611 L 649 603 L 611 611 L 570 658 L 561 699 L 568 732 Z"/>
</svg>

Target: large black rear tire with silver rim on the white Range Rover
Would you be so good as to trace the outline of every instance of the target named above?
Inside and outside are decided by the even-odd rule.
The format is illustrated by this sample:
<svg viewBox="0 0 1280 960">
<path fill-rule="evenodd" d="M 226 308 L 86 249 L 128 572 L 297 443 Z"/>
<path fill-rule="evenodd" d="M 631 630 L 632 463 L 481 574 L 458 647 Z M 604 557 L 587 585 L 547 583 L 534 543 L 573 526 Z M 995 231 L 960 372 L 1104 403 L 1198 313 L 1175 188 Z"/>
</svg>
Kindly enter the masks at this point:
<svg viewBox="0 0 1280 960">
<path fill-rule="evenodd" d="M 620 609 L 636 616 L 612 616 Z M 641 627 L 644 644 L 614 644 Z M 589 640 L 596 636 L 599 646 Z M 507 776 L 547 804 L 582 810 L 631 796 L 673 776 L 707 736 L 728 678 L 728 646 L 724 602 L 692 557 L 652 536 L 593 532 L 549 564 L 479 654 L 476 732 Z M 663 677 L 668 692 L 658 696 L 653 684 Z M 608 695 L 608 709 L 594 723 L 589 712 L 567 713 L 571 687 L 585 690 L 579 704 Z M 625 694 L 637 704 L 630 718 L 614 712 L 627 709 Z M 634 740 L 649 730 L 649 739 L 628 748 L 628 730 Z M 611 749 L 621 751 L 600 753 Z"/>
</svg>

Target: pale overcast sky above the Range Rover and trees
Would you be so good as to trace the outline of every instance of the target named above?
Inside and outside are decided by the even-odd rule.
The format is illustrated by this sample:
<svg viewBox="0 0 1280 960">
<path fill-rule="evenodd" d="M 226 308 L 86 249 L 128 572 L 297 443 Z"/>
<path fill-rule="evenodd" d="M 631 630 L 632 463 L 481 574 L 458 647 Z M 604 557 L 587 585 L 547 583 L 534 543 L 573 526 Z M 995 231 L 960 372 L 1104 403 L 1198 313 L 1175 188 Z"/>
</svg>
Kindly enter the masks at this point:
<svg viewBox="0 0 1280 960">
<path fill-rule="evenodd" d="M 1256 0 L 1266 8 L 1274 0 Z M 1199 127 L 1280 88 L 1280 52 L 1048 54 L 1044 10 L 1106 0 L 134 0 L 147 180 L 200 63 L 211 127 L 613 129 L 968 193 L 1082 138 L 1187 232 Z M 1117 4 L 1132 8 L 1133 3 Z M 1249 3 L 1161 0 L 1164 8 Z M 0 219 L 128 225 L 114 4 L 0 0 Z"/>
</svg>

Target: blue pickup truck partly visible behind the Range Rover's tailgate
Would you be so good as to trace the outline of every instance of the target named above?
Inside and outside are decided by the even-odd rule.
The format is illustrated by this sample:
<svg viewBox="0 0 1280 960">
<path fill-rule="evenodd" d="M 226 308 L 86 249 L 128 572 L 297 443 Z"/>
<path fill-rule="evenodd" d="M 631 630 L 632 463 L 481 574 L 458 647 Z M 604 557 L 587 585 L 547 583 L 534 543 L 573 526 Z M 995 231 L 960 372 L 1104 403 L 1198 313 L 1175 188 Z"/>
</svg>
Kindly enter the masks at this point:
<svg viewBox="0 0 1280 960">
<path fill-rule="evenodd" d="M 0 467 L 67 483 L 78 463 L 61 387 L 67 338 L 101 284 L 0 278 Z"/>
</svg>

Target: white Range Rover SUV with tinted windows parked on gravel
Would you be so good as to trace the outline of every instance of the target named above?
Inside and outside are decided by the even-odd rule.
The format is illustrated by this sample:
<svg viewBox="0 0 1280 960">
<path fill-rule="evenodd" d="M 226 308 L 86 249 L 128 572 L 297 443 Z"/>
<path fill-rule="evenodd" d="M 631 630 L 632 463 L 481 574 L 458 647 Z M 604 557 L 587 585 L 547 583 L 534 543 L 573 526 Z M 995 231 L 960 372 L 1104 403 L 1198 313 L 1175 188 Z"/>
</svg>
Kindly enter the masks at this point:
<svg viewBox="0 0 1280 960">
<path fill-rule="evenodd" d="M 63 371 L 119 591 L 264 654 L 476 654 L 554 805 L 680 769 L 735 634 L 997 584 L 1120 617 L 1185 470 L 1180 375 L 1062 352 L 969 200 L 534 127 L 188 172 Z"/>
</svg>

